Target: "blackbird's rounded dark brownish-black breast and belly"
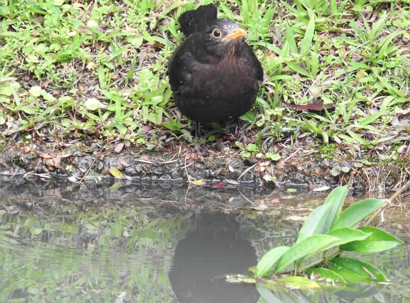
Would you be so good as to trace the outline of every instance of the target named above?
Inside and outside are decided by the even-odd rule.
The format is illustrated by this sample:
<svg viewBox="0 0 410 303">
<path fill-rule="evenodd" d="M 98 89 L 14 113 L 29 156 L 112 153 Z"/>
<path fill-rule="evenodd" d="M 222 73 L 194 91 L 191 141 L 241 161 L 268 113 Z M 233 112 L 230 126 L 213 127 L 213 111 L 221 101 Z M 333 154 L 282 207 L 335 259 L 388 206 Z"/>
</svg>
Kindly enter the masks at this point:
<svg viewBox="0 0 410 303">
<path fill-rule="evenodd" d="M 260 81 L 241 58 L 226 56 L 215 64 L 191 68 L 186 81 L 174 93 L 181 113 L 198 122 L 235 119 L 255 102 Z"/>
</svg>

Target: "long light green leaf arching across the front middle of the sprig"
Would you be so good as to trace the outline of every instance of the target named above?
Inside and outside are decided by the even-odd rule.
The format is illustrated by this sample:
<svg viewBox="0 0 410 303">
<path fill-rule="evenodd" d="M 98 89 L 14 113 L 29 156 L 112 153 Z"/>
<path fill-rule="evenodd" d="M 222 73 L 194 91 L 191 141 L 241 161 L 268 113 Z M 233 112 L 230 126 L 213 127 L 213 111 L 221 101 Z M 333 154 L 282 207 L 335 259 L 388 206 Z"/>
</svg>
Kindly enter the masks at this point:
<svg viewBox="0 0 410 303">
<path fill-rule="evenodd" d="M 339 241 L 338 238 L 328 235 L 312 235 L 301 240 L 301 242 L 296 243 L 289 248 L 289 250 L 279 259 L 275 267 L 275 274 L 283 267 L 291 264 L 294 260 L 303 258 L 311 253 L 328 249 L 337 241 Z"/>
</svg>

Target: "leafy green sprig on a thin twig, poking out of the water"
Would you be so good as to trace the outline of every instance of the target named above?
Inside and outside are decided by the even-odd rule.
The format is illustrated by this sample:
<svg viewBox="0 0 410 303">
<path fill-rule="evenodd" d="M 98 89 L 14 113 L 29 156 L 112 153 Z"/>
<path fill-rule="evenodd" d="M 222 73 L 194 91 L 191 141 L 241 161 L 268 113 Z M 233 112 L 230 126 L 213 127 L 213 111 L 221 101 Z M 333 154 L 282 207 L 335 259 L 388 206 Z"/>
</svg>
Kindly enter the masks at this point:
<svg viewBox="0 0 410 303">
<path fill-rule="evenodd" d="M 408 185 L 409 183 L 405 186 Z M 394 197 L 405 186 L 396 192 Z M 265 298 L 273 296 L 271 292 L 266 292 L 266 287 L 275 289 L 280 285 L 305 289 L 324 288 L 331 289 L 332 292 L 343 290 L 345 293 L 355 294 L 354 297 L 361 297 L 357 294 L 369 292 L 369 289 L 372 289 L 373 293 L 380 291 L 383 285 L 388 284 L 388 280 L 378 268 L 355 258 L 342 258 L 341 254 L 344 251 L 375 253 L 403 243 L 379 228 L 368 226 L 375 215 L 364 226 L 353 228 L 378 208 L 385 208 L 390 200 L 365 199 L 352 204 L 342 212 L 347 192 L 347 185 L 335 188 L 324 204 L 309 215 L 299 231 L 296 243 L 290 247 L 278 246 L 267 252 L 257 266 L 251 269 L 255 273 L 254 277 L 228 279 L 234 282 L 257 282 L 258 290 L 262 296 L 265 294 Z M 394 200 L 393 197 L 391 199 Z M 336 250 L 329 251 L 330 249 Z M 303 262 L 318 253 L 321 253 L 319 260 L 302 266 Z M 291 265 L 293 269 L 290 269 Z M 270 278 L 266 278 L 268 275 L 271 275 Z M 353 286 L 351 283 L 359 286 Z M 360 286 L 363 284 L 366 285 L 365 290 Z M 377 287 L 374 287 L 375 285 Z"/>
</svg>

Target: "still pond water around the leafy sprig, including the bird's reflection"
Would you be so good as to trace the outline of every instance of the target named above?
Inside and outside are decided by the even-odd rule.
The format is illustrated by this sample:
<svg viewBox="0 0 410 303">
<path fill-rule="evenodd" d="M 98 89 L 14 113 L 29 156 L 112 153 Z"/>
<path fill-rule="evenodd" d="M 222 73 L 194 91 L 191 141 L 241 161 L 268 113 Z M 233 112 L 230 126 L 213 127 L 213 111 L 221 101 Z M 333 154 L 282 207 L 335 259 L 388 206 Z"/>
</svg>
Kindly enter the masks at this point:
<svg viewBox="0 0 410 303">
<path fill-rule="evenodd" d="M 220 186 L 2 177 L 0 302 L 410 302 L 405 209 L 375 224 L 405 243 L 360 256 L 392 285 L 320 293 L 225 281 L 292 245 L 323 197 Z"/>
</svg>

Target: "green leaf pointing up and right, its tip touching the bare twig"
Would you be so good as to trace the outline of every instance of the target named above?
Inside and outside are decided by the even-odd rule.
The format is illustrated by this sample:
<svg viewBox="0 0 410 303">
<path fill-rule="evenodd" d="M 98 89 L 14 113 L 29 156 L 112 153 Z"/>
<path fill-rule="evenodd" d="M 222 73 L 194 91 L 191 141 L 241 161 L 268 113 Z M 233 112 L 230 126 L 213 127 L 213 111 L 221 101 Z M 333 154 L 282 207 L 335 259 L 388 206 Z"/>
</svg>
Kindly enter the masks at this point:
<svg viewBox="0 0 410 303">
<path fill-rule="evenodd" d="M 331 229 L 352 227 L 385 203 L 385 199 L 364 199 L 349 206 L 332 224 Z"/>
</svg>

